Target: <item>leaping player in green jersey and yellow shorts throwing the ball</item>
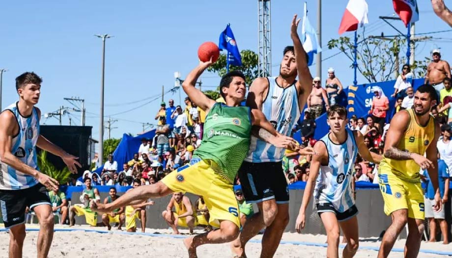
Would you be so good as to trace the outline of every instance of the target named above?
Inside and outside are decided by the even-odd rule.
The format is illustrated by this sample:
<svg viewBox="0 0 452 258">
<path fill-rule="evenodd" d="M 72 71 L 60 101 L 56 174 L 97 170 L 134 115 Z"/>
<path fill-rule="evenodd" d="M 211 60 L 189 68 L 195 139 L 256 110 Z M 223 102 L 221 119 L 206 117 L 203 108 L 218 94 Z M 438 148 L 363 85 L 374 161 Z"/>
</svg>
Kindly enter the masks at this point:
<svg viewBox="0 0 452 258">
<path fill-rule="evenodd" d="M 209 210 L 209 224 L 219 229 L 184 239 L 190 258 L 197 257 L 199 245 L 230 242 L 238 235 L 239 210 L 233 182 L 250 148 L 252 126 L 264 128 L 259 131 L 259 136 L 277 147 L 295 148 L 294 140 L 279 134 L 260 110 L 240 106 L 246 93 L 245 76 L 241 72 L 229 72 L 221 79 L 220 94 L 226 104 L 207 98 L 195 88 L 198 77 L 211 64 L 212 59 L 200 62 L 182 84 L 188 97 L 207 114 L 202 144 L 193 153 L 190 163 L 156 184 L 126 192 L 111 204 L 91 203 L 93 209 L 109 211 L 172 192 L 201 195 Z"/>
</svg>

